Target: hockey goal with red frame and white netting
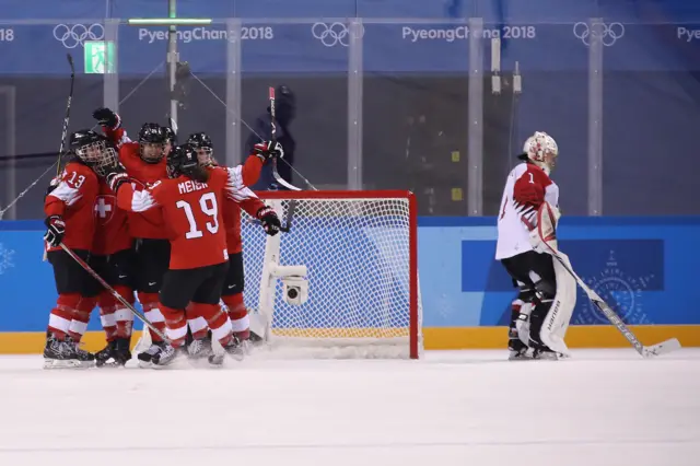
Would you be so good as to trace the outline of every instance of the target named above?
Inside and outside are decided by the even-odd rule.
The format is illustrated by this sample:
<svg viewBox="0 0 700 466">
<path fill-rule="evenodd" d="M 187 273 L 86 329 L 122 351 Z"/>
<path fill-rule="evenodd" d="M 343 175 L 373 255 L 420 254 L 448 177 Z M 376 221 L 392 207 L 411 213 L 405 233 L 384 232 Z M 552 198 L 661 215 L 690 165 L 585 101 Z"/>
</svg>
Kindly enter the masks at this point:
<svg viewBox="0 0 700 466">
<path fill-rule="evenodd" d="M 419 358 L 415 196 L 394 190 L 257 195 L 283 225 L 291 221 L 289 232 L 268 236 L 259 222 L 242 214 L 245 304 L 252 329 L 268 348 L 318 358 Z"/>
</svg>

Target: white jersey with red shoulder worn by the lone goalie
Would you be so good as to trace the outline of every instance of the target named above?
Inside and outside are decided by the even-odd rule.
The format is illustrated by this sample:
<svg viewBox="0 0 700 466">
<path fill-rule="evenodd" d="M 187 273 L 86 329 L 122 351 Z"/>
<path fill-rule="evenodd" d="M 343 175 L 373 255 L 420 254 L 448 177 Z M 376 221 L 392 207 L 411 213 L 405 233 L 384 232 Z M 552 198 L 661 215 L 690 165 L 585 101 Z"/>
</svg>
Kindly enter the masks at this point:
<svg viewBox="0 0 700 466">
<path fill-rule="evenodd" d="M 515 166 L 508 175 L 501 200 L 497 260 L 533 249 L 529 229 L 535 225 L 537 209 L 545 200 L 559 206 L 559 187 L 555 182 L 533 163 Z"/>
</svg>

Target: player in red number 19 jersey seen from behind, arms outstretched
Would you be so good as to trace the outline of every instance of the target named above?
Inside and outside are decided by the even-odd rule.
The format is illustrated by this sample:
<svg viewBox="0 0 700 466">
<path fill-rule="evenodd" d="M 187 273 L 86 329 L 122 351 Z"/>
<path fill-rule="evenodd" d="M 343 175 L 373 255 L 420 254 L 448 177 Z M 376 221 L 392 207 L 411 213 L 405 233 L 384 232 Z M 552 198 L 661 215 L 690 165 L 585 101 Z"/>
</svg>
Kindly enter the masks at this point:
<svg viewBox="0 0 700 466">
<path fill-rule="evenodd" d="M 190 303 L 226 351 L 237 349 L 231 321 L 219 305 L 229 266 L 220 206 L 223 207 L 224 197 L 233 198 L 244 208 L 247 203 L 259 202 L 243 185 L 240 167 L 201 167 L 189 144 L 175 148 L 167 158 L 167 167 L 168 179 L 141 191 L 132 188 L 122 168 L 115 167 L 107 175 L 120 208 L 135 212 L 160 208 L 173 233 L 170 268 L 161 290 L 161 311 L 165 315 L 171 345 L 161 343 L 159 351 L 152 354 L 151 362 L 156 365 L 172 362 L 176 350 L 184 347 L 187 336 L 185 310 Z M 279 232 L 280 221 L 273 211 L 262 208 L 256 217 L 268 234 Z M 209 360 L 222 362 L 214 354 Z"/>
</svg>

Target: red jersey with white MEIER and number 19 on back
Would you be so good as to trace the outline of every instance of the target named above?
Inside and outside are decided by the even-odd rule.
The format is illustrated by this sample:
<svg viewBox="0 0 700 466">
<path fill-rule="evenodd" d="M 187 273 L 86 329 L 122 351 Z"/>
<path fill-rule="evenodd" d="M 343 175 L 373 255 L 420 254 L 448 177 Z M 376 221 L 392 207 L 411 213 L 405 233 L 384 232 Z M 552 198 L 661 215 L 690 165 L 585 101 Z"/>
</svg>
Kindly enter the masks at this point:
<svg viewBox="0 0 700 466">
<path fill-rule="evenodd" d="M 186 176 L 163 179 L 148 190 L 135 190 L 124 184 L 117 193 L 117 205 L 131 212 L 161 208 L 173 233 L 171 269 L 194 269 L 229 259 L 223 199 L 241 205 L 259 201 L 243 184 L 242 166 L 210 168 L 207 183 Z"/>
</svg>

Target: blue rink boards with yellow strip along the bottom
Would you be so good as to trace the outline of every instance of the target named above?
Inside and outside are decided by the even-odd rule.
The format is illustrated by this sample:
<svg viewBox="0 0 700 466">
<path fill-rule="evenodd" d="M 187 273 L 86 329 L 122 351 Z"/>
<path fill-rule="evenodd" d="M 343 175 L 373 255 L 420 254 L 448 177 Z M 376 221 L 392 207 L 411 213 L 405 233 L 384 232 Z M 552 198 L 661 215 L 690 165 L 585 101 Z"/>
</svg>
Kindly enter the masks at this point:
<svg viewBox="0 0 700 466">
<path fill-rule="evenodd" d="M 427 349 L 503 347 L 514 289 L 493 260 L 493 218 L 420 218 L 419 270 Z M 38 352 L 56 300 L 42 261 L 39 221 L 0 222 L 0 352 Z M 700 218 L 564 218 L 561 248 L 573 267 L 645 343 L 677 337 L 700 346 L 695 265 Z M 363 326 L 361 321 L 354 325 Z M 370 334 L 364 328 L 347 328 Z M 140 328 L 140 326 L 139 326 Z M 89 347 L 103 343 L 97 313 Z M 398 330 L 398 328 L 397 328 Z M 620 347 L 625 339 L 578 296 L 571 347 Z"/>
</svg>

